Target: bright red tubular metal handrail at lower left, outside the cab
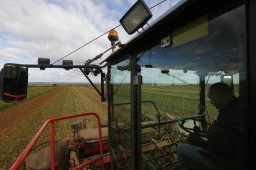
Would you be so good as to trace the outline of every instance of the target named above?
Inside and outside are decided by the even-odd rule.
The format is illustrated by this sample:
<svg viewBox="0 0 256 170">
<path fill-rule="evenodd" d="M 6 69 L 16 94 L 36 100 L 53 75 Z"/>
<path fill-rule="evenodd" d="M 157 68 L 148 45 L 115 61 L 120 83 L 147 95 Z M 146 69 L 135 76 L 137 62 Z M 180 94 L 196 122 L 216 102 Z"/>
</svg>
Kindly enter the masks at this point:
<svg viewBox="0 0 256 170">
<path fill-rule="evenodd" d="M 20 165 L 22 164 L 22 162 L 25 160 L 26 156 L 28 155 L 28 153 L 32 150 L 33 146 L 35 145 L 36 141 L 39 139 L 40 135 L 42 134 L 42 132 L 45 130 L 46 126 L 51 123 L 51 169 L 55 169 L 54 165 L 55 165 L 55 153 L 54 153 L 54 122 L 55 121 L 59 121 L 62 119 L 69 119 L 69 118 L 75 118 L 75 117 L 79 117 L 79 116 L 87 116 L 87 115 L 93 115 L 97 118 L 98 121 L 98 129 L 99 129 L 99 140 L 100 140 L 100 155 L 96 158 L 93 158 L 90 161 L 87 161 L 86 163 L 81 164 L 80 166 L 74 168 L 75 169 L 80 169 L 84 166 L 87 166 L 90 163 L 93 163 L 95 161 L 101 161 L 101 168 L 104 168 L 104 161 L 103 161 L 103 147 L 102 147 L 102 137 L 101 137 L 101 124 L 100 124 L 100 117 L 93 112 L 90 113 L 80 113 L 77 115 L 69 115 L 69 116 L 62 116 L 62 117 L 58 117 L 58 118 L 52 118 L 52 119 L 48 119 L 47 121 L 45 121 L 45 123 L 43 124 L 43 126 L 41 126 L 41 128 L 39 129 L 38 132 L 36 132 L 35 136 L 33 137 L 33 139 L 29 142 L 29 144 L 27 145 L 27 147 L 23 150 L 23 152 L 20 154 L 19 158 L 17 158 L 17 160 L 14 162 L 14 164 L 12 164 L 10 169 L 19 169 Z"/>
</svg>

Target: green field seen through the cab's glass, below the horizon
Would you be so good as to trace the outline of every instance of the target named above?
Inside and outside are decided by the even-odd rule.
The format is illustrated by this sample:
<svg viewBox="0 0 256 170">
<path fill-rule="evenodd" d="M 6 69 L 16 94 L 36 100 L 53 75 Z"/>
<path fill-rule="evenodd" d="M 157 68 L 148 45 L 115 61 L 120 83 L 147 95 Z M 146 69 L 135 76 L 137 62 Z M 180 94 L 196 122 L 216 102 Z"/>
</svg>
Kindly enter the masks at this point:
<svg viewBox="0 0 256 170">
<path fill-rule="evenodd" d="M 208 89 L 210 85 L 206 87 Z M 234 92 L 239 94 L 238 86 L 234 86 Z M 143 84 L 142 88 L 142 114 L 148 116 L 150 119 L 156 119 L 156 108 L 160 112 L 160 115 L 168 113 L 169 115 L 179 118 L 182 116 L 197 115 L 199 113 L 199 86 L 197 85 L 158 85 L 152 86 L 150 84 Z M 117 84 L 113 86 L 114 103 L 117 104 L 114 107 L 116 116 L 122 113 L 127 121 L 130 118 L 125 116 L 129 114 L 130 105 L 130 85 L 129 84 Z M 205 91 L 205 99 L 207 100 L 207 90 Z M 147 102 L 150 101 L 150 102 Z M 153 103 L 155 103 L 156 108 Z M 120 103 L 126 103 L 119 105 Z M 214 120 L 218 116 L 218 110 L 216 110 L 210 102 L 207 105 L 210 119 Z M 207 110 L 205 110 L 207 114 Z M 119 116 L 120 117 L 120 116 Z M 208 117 L 207 117 L 208 120 Z"/>
</svg>

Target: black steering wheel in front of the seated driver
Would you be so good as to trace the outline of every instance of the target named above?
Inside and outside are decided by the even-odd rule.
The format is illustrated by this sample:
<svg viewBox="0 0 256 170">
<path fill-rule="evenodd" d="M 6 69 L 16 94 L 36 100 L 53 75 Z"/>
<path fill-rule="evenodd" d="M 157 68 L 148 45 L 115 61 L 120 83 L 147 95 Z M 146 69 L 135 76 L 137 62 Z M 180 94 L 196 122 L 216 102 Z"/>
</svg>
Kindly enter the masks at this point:
<svg viewBox="0 0 256 170">
<path fill-rule="evenodd" d="M 184 124 L 187 123 L 187 120 L 192 120 L 194 121 L 194 127 L 187 127 L 184 126 Z M 197 126 L 196 121 L 198 121 L 198 119 L 179 119 L 177 121 L 177 124 L 179 125 L 179 127 L 181 127 L 182 130 L 189 132 L 189 134 L 197 134 L 200 137 L 208 137 L 208 132 L 207 131 L 203 131 L 202 128 L 200 128 L 199 126 Z M 211 126 L 210 123 L 207 123 L 208 126 Z"/>
</svg>

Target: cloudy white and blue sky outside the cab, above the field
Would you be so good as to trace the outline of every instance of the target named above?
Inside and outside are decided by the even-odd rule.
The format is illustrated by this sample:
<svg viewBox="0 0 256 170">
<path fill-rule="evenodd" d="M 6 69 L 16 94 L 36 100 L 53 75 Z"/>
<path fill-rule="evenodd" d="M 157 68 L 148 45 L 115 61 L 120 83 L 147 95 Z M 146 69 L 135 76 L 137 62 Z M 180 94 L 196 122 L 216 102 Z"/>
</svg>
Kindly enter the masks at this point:
<svg viewBox="0 0 256 170">
<path fill-rule="evenodd" d="M 0 68 L 4 63 L 36 64 L 38 57 L 56 62 L 92 39 L 120 25 L 120 18 L 136 0 L 24 0 L 1 1 L 0 6 Z M 162 0 L 145 0 L 148 7 Z M 151 9 L 148 23 L 174 6 L 179 0 L 167 0 Z M 116 28 L 125 43 L 129 36 L 121 26 Z M 82 65 L 110 47 L 108 34 L 88 44 L 65 59 Z M 108 57 L 103 55 L 100 63 Z M 56 64 L 62 64 L 62 60 Z M 30 82 L 87 82 L 80 70 L 61 68 L 29 68 Z M 92 80 L 98 78 L 92 76 Z"/>
</svg>

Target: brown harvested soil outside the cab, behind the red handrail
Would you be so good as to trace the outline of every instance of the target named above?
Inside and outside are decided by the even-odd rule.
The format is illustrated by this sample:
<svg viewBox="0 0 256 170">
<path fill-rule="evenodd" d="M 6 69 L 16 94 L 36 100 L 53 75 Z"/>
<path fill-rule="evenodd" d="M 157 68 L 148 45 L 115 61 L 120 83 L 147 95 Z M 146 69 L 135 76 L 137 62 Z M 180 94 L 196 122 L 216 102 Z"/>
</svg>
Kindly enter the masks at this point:
<svg viewBox="0 0 256 170">
<path fill-rule="evenodd" d="M 1 110 L 0 169 L 11 167 L 47 119 L 85 112 L 95 112 L 101 121 L 107 121 L 106 102 L 100 101 L 100 95 L 94 89 L 82 86 L 58 87 Z M 58 125 L 60 129 L 65 127 Z"/>
</svg>

